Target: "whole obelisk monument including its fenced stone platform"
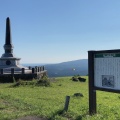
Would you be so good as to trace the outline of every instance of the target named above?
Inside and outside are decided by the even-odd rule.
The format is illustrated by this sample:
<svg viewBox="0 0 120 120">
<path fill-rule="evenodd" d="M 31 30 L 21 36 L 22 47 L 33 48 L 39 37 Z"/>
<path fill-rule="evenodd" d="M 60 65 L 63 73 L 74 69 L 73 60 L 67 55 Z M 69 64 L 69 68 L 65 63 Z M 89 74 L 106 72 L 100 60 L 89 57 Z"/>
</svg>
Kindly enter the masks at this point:
<svg viewBox="0 0 120 120">
<path fill-rule="evenodd" d="M 3 47 L 5 52 L 0 58 L 0 82 L 13 82 L 13 77 L 16 81 L 19 79 L 41 79 L 43 76 L 47 75 L 47 71 L 44 70 L 44 66 L 28 68 L 20 65 L 20 58 L 13 54 L 9 17 L 6 19 L 5 44 Z"/>
</svg>

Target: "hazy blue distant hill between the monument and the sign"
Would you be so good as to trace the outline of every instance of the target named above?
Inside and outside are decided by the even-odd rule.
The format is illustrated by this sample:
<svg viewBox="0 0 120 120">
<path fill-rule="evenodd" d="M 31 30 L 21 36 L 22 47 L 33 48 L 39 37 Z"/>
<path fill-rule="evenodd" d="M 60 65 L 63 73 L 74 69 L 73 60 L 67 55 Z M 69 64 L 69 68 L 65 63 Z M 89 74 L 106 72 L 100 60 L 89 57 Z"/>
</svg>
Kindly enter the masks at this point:
<svg viewBox="0 0 120 120">
<path fill-rule="evenodd" d="M 49 77 L 87 75 L 88 59 L 62 62 L 58 64 L 46 64 L 45 69 Z"/>
</svg>

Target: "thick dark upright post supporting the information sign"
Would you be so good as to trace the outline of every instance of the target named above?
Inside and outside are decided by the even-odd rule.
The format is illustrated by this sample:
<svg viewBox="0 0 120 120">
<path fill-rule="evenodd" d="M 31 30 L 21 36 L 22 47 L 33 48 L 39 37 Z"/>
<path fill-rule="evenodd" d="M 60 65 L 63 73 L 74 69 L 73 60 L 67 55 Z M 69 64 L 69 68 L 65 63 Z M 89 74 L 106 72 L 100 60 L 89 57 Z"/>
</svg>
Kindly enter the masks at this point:
<svg viewBox="0 0 120 120">
<path fill-rule="evenodd" d="M 96 113 L 96 90 L 94 89 L 94 51 L 88 51 L 89 114 Z"/>
</svg>

